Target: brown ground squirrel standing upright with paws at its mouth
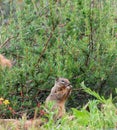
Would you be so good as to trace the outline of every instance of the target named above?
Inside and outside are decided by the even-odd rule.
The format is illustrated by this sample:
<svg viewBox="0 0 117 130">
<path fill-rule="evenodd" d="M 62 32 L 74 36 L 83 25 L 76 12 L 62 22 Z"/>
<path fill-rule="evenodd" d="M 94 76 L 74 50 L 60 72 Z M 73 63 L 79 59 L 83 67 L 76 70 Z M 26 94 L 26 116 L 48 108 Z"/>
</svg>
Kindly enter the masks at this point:
<svg viewBox="0 0 117 130">
<path fill-rule="evenodd" d="M 46 104 L 53 101 L 55 104 L 53 110 L 58 113 L 55 118 L 60 118 L 65 114 L 65 102 L 71 93 L 71 83 L 66 78 L 57 78 L 54 87 L 51 89 L 49 96 L 46 99 Z"/>
</svg>

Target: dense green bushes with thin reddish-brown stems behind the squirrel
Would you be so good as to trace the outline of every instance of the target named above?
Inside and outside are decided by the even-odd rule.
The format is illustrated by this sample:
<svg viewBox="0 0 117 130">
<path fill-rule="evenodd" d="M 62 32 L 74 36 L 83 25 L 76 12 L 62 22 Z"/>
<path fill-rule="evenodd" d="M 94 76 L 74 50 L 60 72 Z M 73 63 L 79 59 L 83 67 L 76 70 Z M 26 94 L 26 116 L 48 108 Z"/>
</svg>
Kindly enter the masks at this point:
<svg viewBox="0 0 117 130">
<path fill-rule="evenodd" d="M 84 81 L 101 95 L 116 96 L 115 0 L 5 0 L 0 7 L 0 53 L 14 64 L 0 71 L 0 97 L 16 112 L 0 108 L 2 118 L 32 117 L 56 76 L 75 89 Z M 77 106 L 77 95 L 72 92 L 69 106 Z"/>
</svg>

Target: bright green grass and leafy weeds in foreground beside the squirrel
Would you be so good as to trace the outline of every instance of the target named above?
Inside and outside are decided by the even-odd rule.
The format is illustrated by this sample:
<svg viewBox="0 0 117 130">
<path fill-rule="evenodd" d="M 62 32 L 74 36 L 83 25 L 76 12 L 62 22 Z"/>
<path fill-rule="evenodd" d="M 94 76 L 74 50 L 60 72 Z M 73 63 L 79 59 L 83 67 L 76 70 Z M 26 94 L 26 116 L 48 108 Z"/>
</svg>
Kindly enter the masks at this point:
<svg viewBox="0 0 117 130">
<path fill-rule="evenodd" d="M 54 112 L 49 112 L 45 115 L 48 121 L 41 127 L 30 127 L 29 130 L 42 129 L 42 130 L 103 130 L 103 129 L 116 129 L 117 125 L 117 108 L 112 103 L 112 98 L 104 99 L 89 88 L 83 87 L 84 91 L 95 96 L 95 100 L 90 100 L 86 106 L 80 110 L 72 108 L 66 115 L 55 121 L 53 120 Z M 73 117 L 72 119 L 70 117 Z M 41 118 L 42 120 L 42 118 Z M 23 124 L 24 119 L 20 119 Z M 7 127 L 7 124 L 5 125 Z M 10 126 L 9 126 L 10 127 Z M 21 125 L 23 127 L 23 125 Z M 1 130 L 6 130 L 1 124 Z"/>
</svg>

